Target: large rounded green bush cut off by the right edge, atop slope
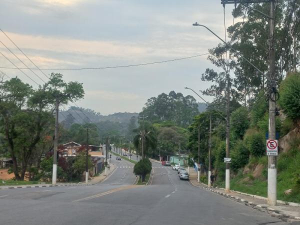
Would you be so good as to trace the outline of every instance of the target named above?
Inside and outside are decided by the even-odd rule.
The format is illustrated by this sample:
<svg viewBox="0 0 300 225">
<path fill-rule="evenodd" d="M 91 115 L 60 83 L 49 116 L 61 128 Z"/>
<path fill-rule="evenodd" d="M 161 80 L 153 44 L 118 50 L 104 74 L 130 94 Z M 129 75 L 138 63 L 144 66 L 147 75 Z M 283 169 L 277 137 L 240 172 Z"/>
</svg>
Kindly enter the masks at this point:
<svg viewBox="0 0 300 225">
<path fill-rule="evenodd" d="M 300 74 L 286 76 L 280 84 L 279 104 L 283 112 L 291 119 L 300 117 Z"/>
</svg>

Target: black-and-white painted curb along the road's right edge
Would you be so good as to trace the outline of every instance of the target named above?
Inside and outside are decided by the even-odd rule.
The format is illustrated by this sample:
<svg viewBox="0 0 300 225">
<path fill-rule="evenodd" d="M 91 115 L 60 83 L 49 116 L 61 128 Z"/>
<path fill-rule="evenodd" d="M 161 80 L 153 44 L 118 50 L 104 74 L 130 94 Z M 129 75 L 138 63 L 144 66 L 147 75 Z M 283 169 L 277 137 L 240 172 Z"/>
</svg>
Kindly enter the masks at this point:
<svg viewBox="0 0 300 225">
<path fill-rule="evenodd" d="M 297 219 L 297 220 L 300 219 L 299 216 L 287 215 L 287 214 L 285 214 L 284 212 L 282 212 L 282 211 L 280 211 L 280 210 L 278 210 L 278 209 L 274 209 L 274 208 L 271 208 L 271 207 L 267 207 L 267 206 L 265 206 L 265 205 L 255 204 L 255 203 L 253 203 L 253 202 L 251 202 L 251 201 L 247 201 L 247 200 L 242 199 L 242 198 L 239 198 L 239 197 L 234 197 L 234 196 L 232 196 L 232 195 L 229 195 L 229 194 L 226 194 L 226 193 L 223 193 L 223 192 L 220 192 L 220 191 L 218 191 L 218 190 L 214 190 L 214 189 L 211 189 L 211 188 L 208 188 L 208 187 L 198 186 L 198 185 L 193 184 L 191 181 L 189 181 L 189 183 L 190 183 L 191 185 L 195 186 L 195 187 L 202 188 L 202 189 L 204 189 L 204 190 L 208 190 L 208 191 L 217 193 L 217 194 L 222 195 L 222 196 L 224 196 L 224 197 L 230 198 L 230 199 L 232 199 L 232 200 L 234 200 L 234 201 L 243 202 L 246 206 L 249 206 L 249 207 L 258 209 L 258 210 L 260 210 L 260 211 L 266 211 L 266 212 L 271 211 L 271 212 L 274 212 L 274 213 L 276 213 L 275 216 L 277 216 L 277 217 L 285 217 L 285 218 L 291 218 L 291 219 Z M 234 192 L 235 192 L 235 191 L 234 191 Z M 246 195 L 247 195 L 247 194 L 246 194 Z M 252 196 L 252 195 L 250 195 L 250 196 Z"/>
</svg>

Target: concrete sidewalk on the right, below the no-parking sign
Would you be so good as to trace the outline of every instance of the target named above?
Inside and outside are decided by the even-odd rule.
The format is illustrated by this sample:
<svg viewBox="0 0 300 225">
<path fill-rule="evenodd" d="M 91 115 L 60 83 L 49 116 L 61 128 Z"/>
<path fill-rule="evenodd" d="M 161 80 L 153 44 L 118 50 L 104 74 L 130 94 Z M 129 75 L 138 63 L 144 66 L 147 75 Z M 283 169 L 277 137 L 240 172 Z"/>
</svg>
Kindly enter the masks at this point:
<svg viewBox="0 0 300 225">
<path fill-rule="evenodd" d="M 258 209 L 260 211 L 271 213 L 272 215 L 283 219 L 288 219 L 288 221 L 300 220 L 300 206 L 298 206 L 299 204 L 297 203 L 283 202 L 278 200 L 277 205 L 269 206 L 266 202 L 266 198 L 262 196 L 251 195 L 234 190 L 230 190 L 230 192 L 225 192 L 224 188 L 218 187 L 208 188 L 206 184 L 197 181 L 197 173 L 193 168 L 191 168 L 189 172 L 189 182 L 193 186 L 220 194 L 224 197 L 231 198 L 235 201 L 243 202 L 247 206 Z"/>
</svg>

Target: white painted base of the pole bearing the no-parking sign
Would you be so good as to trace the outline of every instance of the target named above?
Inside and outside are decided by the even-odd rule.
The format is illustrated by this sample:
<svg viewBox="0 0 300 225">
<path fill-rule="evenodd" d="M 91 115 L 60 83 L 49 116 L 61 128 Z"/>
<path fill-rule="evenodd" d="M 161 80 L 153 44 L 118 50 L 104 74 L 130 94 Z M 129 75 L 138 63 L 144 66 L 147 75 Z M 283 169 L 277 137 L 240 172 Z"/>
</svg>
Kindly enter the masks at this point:
<svg viewBox="0 0 300 225">
<path fill-rule="evenodd" d="M 276 168 L 267 169 L 267 204 L 276 205 L 277 190 L 276 190 Z"/>
</svg>

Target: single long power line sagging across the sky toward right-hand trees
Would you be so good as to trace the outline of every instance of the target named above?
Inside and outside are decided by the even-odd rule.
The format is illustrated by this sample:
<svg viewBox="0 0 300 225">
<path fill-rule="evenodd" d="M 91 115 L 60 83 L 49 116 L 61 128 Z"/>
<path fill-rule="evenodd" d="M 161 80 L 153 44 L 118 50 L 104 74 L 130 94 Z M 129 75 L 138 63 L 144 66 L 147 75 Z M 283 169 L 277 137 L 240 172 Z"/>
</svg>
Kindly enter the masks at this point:
<svg viewBox="0 0 300 225">
<path fill-rule="evenodd" d="M 122 67 L 132 67 L 132 66 L 141 66 L 141 65 L 151 65 L 151 64 L 158 64 L 158 63 L 164 63 L 164 62 L 171 62 L 171 61 L 178 61 L 178 60 L 183 60 L 183 59 L 188 59 L 188 58 L 195 58 L 203 55 L 207 55 L 207 53 L 203 54 L 196 54 L 192 56 L 187 56 L 187 57 L 181 57 L 181 58 L 174 58 L 174 59 L 169 59 L 169 60 L 163 60 L 163 61 L 154 61 L 154 62 L 145 62 L 145 63 L 139 63 L 139 64 L 129 64 L 129 65 L 114 65 L 114 66 L 105 66 L 105 67 L 85 67 L 85 68 L 20 68 L 20 69 L 39 69 L 39 70 L 92 70 L 92 69 L 108 69 L 108 68 L 122 68 Z M 0 68 L 6 68 L 6 69 L 15 69 L 14 67 L 4 67 L 1 66 Z"/>
</svg>

